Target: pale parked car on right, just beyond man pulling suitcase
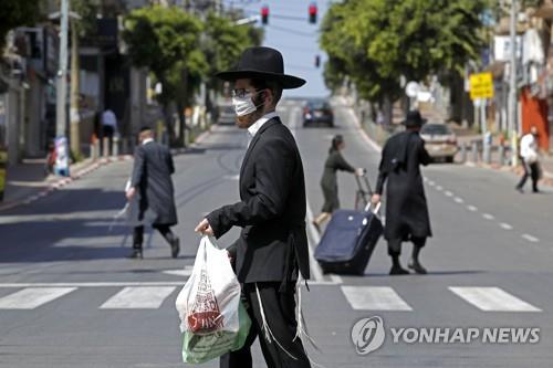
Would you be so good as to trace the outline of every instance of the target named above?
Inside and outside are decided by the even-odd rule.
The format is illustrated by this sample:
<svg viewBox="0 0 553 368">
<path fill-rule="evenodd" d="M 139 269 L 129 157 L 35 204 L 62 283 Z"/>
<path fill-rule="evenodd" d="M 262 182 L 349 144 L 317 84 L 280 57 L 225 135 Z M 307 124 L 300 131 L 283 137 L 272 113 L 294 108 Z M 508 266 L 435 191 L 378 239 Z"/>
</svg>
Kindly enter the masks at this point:
<svg viewBox="0 0 553 368">
<path fill-rule="evenodd" d="M 425 140 L 425 147 L 434 159 L 444 159 L 453 162 L 457 154 L 457 136 L 446 124 L 428 123 L 422 125 L 420 137 Z"/>
</svg>

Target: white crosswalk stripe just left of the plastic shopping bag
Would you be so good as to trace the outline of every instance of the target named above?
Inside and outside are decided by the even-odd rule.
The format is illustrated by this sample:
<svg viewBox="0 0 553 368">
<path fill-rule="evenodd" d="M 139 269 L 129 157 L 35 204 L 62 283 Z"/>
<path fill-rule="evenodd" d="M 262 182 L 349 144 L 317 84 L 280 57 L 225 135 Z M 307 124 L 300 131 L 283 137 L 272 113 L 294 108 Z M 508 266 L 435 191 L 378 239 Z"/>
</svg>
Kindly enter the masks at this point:
<svg viewBox="0 0 553 368">
<path fill-rule="evenodd" d="M 125 287 L 104 304 L 102 309 L 156 309 L 175 291 L 175 286 Z"/>
</svg>

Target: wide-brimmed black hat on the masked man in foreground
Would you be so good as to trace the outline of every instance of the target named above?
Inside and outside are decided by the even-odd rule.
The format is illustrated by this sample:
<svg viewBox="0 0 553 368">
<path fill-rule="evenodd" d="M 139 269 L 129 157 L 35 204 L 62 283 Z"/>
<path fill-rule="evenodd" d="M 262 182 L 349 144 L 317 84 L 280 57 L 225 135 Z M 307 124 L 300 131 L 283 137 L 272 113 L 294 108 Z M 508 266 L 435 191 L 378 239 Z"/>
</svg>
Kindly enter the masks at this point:
<svg viewBox="0 0 553 368">
<path fill-rule="evenodd" d="M 262 46 L 246 49 L 233 70 L 216 75 L 223 81 L 241 78 L 276 81 L 284 90 L 299 88 L 305 84 L 305 80 L 284 74 L 284 61 L 279 51 Z"/>
</svg>

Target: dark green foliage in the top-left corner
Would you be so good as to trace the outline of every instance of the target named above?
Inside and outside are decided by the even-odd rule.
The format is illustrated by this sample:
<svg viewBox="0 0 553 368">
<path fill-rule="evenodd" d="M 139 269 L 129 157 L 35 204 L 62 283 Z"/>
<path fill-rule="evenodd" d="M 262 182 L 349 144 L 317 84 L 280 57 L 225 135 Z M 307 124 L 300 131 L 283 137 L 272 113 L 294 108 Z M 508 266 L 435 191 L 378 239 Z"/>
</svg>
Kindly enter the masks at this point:
<svg viewBox="0 0 553 368">
<path fill-rule="evenodd" d="M 40 15 L 39 1 L 0 1 L 0 51 L 3 50 L 6 35 L 11 29 L 32 25 Z"/>
</svg>

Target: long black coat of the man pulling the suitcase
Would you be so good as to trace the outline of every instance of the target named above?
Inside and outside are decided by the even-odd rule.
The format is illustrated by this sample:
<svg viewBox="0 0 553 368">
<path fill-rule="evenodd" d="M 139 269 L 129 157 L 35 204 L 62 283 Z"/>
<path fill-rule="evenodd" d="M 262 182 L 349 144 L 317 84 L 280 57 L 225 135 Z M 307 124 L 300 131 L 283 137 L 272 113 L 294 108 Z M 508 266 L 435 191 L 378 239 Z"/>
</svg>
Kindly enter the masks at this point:
<svg viewBox="0 0 553 368">
<path fill-rule="evenodd" d="M 420 165 L 428 165 L 430 156 L 417 133 L 404 132 L 388 139 L 384 146 L 376 193 L 382 194 L 386 179 L 387 240 L 410 236 L 431 236 Z"/>
</svg>

